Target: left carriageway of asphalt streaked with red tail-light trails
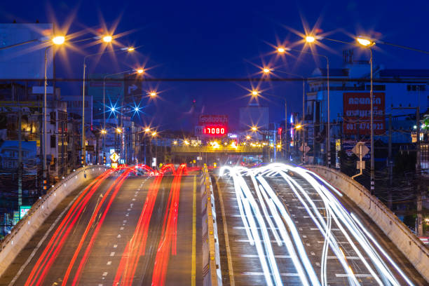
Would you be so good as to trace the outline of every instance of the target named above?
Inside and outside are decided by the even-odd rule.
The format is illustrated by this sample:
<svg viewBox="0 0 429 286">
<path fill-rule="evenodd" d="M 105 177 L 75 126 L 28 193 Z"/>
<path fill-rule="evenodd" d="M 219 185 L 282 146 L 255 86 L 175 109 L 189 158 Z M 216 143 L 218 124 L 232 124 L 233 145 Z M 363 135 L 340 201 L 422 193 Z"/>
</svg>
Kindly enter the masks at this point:
<svg viewBox="0 0 429 286">
<path fill-rule="evenodd" d="M 191 279 L 200 285 L 200 198 L 193 196 L 199 180 L 177 177 L 118 172 L 99 186 L 77 189 L 46 219 L 0 285 L 191 285 Z"/>
</svg>

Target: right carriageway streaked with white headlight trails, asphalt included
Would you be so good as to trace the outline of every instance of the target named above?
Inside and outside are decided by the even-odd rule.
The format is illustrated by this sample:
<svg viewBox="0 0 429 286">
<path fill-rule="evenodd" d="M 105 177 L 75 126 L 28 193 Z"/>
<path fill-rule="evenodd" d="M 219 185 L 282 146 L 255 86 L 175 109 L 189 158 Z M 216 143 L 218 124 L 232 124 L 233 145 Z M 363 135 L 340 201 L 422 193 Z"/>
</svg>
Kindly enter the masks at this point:
<svg viewBox="0 0 429 286">
<path fill-rule="evenodd" d="M 302 169 L 286 169 L 226 169 L 219 179 L 230 249 L 221 250 L 225 285 L 230 268 L 235 285 L 426 285 L 353 202 Z"/>
</svg>

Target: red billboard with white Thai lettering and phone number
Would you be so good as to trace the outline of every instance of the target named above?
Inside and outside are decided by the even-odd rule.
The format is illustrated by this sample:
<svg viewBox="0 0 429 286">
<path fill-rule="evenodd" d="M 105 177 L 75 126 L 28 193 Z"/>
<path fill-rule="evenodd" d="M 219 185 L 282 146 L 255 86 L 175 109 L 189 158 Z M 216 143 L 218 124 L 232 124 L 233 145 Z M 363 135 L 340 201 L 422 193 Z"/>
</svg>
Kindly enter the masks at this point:
<svg viewBox="0 0 429 286">
<path fill-rule="evenodd" d="M 386 132 L 386 95 L 374 93 L 374 134 Z M 343 93 L 343 132 L 348 135 L 369 135 L 371 132 L 371 100 L 369 93 Z"/>
</svg>

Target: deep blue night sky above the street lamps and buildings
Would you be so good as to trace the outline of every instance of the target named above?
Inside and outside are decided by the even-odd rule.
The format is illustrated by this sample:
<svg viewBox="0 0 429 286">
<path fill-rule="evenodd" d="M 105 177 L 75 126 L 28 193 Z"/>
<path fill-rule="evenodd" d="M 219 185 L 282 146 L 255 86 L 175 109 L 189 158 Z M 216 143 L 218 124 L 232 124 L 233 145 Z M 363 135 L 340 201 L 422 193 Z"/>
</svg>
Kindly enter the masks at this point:
<svg viewBox="0 0 429 286">
<path fill-rule="evenodd" d="M 64 27 L 73 19 L 69 33 L 88 27 L 97 29 L 104 21 L 107 27 L 118 22 L 116 33 L 130 32 L 118 39 L 139 48 L 138 57 L 103 57 L 90 64 L 91 72 L 114 73 L 147 61 L 155 78 L 241 78 L 254 75 L 258 69 L 249 62 L 261 64 L 261 55 L 270 60 L 273 50 L 267 43 L 290 42 L 299 36 L 285 26 L 304 31 L 318 23 L 322 32 L 333 32 L 331 38 L 353 41 L 346 34 L 372 32 L 385 41 L 429 50 L 428 1 L 4 1 L 0 22 L 50 22 L 55 14 L 57 25 Z M 39 4 L 41 3 L 41 4 Z M 72 17 L 75 13 L 75 16 Z M 278 39 L 278 40 L 277 40 Z M 341 50 L 346 45 L 325 42 L 329 50 L 318 47 L 318 53 L 329 56 L 331 67 L 341 65 Z M 301 48 L 298 46 L 297 48 Z M 97 47 L 84 53 L 95 53 Z M 362 54 L 362 58 L 367 55 Z M 83 55 L 68 53 L 68 69 L 57 62 L 58 77 L 81 76 Z M 283 62 L 286 71 L 308 76 L 320 62 L 313 57 L 292 57 Z M 383 46 L 374 52 L 374 63 L 388 68 L 429 67 L 429 55 Z M 276 65 L 282 64 L 281 60 Z M 189 128 L 187 111 L 196 100 L 205 113 L 227 114 L 234 127 L 238 125 L 238 107 L 245 106 L 250 83 L 159 83 L 163 90 L 155 105 L 147 109 L 156 114 L 154 122 L 161 128 Z M 285 97 L 294 111 L 301 110 L 299 83 L 268 83 L 266 90 L 271 121 L 283 116 Z M 63 94 L 74 91 L 62 90 Z M 273 97 L 275 95 L 277 97 Z M 163 115 L 163 116 L 161 116 Z M 162 118 L 162 119 L 161 119 Z M 177 119 L 179 118 L 179 119 Z"/>
</svg>

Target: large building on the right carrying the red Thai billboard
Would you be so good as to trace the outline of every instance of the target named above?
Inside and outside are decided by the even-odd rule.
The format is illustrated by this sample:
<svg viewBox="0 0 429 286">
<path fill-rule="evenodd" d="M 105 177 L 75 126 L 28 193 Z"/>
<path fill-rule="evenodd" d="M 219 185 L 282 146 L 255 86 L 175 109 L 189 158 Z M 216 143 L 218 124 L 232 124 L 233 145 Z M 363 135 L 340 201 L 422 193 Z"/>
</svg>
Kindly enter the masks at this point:
<svg viewBox="0 0 429 286">
<path fill-rule="evenodd" d="M 319 158 L 318 163 L 322 163 L 327 137 L 327 70 L 315 69 L 311 76 L 306 98 L 307 138 L 311 152 Z M 336 139 L 342 139 L 343 143 L 368 141 L 369 62 L 355 61 L 353 50 L 345 50 L 343 67 L 329 69 L 329 79 L 331 148 Z M 374 64 L 373 79 L 374 140 L 388 144 L 391 129 L 393 144 L 410 144 L 411 130 L 416 125 L 416 107 L 420 113 L 428 109 L 429 69 L 386 69 Z"/>
</svg>

